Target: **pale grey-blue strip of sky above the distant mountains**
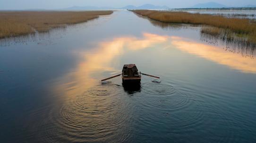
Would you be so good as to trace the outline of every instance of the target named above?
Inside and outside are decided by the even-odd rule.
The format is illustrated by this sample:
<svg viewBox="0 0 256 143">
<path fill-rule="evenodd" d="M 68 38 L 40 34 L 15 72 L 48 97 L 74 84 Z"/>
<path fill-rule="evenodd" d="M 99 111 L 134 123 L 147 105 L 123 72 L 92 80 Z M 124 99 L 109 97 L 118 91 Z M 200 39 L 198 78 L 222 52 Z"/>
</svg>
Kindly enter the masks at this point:
<svg viewBox="0 0 256 143">
<path fill-rule="evenodd" d="M 121 8 L 127 5 L 154 4 L 170 8 L 188 8 L 198 3 L 217 2 L 230 7 L 256 5 L 256 0 L 0 0 L 0 9 L 55 9 L 72 6 Z"/>
</svg>

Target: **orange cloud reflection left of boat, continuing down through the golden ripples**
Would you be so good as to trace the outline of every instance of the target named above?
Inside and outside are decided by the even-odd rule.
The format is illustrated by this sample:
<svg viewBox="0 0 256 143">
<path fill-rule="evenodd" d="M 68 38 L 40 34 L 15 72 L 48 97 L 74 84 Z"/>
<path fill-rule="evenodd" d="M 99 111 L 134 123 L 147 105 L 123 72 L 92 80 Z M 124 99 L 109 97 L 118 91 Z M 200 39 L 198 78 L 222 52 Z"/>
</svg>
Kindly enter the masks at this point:
<svg viewBox="0 0 256 143">
<path fill-rule="evenodd" d="M 115 84 L 98 85 L 103 72 L 119 73 L 111 65 L 117 56 L 125 56 L 128 51 L 154 47 L 166 43 L 168 37 L 144 33 L 142 38 L 124 36 L 111 41 L 102 41 L 89 51 L 78 51 L 81 61 L 74 72 L 60 80 L 56 92 L 65 95 L 63 106 L 59 109 L 61 118 L 53 120 L 54 132 L 65 140 L 80 142 L 126 142 L 132 125 L 130 116 L 133 106 L 124 103 L 123 89 Z M 122 68 L 122 67 L 120 67 Z M 62 129 L 65 127 L 65 130 Z M 81 128 L 83 130 L 81 130 Z M 74 137 L 73 134 L 76 133 Z M 61 135 L 66 136 L 61 136 Z M 121 136 L 121 138 L 120 138 Z M 85 140 L 84 140 L 85 139 Z M 119 140 L 122 141 L 119 141 Z"/>
</svg>

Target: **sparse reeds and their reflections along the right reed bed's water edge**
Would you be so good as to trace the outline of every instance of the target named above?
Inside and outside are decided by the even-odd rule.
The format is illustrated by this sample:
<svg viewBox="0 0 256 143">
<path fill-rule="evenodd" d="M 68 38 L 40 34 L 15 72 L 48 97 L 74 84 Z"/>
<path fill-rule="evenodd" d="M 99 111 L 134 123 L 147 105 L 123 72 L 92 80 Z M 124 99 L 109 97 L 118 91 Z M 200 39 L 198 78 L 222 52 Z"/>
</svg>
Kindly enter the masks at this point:
<svg viewBox="0 0 256 143">
<path fill-rule="evenodd" d="M 207 44 L 213 46 L 221 46 L 225 51 L 231 53 L 240 53 L 243 57 L 256 57 L 256 48 L 250 46 L 248 42 L 242 42 L 241 39 L 226 39 L 227 34 L 232 34 L 232 32 L 224 33 L 223 30 L 220 28 L 213 27 L 213 26 L 200 26 L 200 25 L 193 25 L 193 24 L 170 24 L 170 23 L 163 23 L 156 20 L 152 20 L 145 16 L 137 15 L 140 18 L 148 20 L 152 25 L 158 28 L 162 28 L 164 31 L 190 31 L 191 29 L 198 29 L 200 28 L 200 41 L 206 42 Z M 213 34 L 208 34 L 208 31 L 211 31 Z M 227 31 L 226 31 L 227 32 Z M 215 33 L 215 34 L 214 34 Z"/>
</svg>

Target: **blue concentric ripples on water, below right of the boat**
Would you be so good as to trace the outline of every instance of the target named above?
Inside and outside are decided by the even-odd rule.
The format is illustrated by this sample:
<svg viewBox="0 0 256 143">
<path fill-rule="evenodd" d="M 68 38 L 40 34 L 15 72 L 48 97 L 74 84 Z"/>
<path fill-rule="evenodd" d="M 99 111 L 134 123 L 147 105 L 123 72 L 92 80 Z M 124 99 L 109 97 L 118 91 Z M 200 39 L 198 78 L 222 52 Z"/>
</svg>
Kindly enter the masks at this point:
<svg viewBox="0 0 256 143">
<path fill-rule="evenodd" d="M 141 108 L 147 112 L 158 112 L 159 115 L 140 114 L 140 126 L 154 128 L 156 124 L 162 124 L 162 129 L 153 130 L 159 134 L 165 131 L 170 135 L 186 138 L 186 135 L 204 125 L 206 118 L 201 108 L 202 102 L 197 101 L 196 96 L 183 93 L 171 85 L 153 82 L 144 84 L 142 93 L 144 97 Z M 146 97 L 147 95 L 151 97 Z"/>
</svg>

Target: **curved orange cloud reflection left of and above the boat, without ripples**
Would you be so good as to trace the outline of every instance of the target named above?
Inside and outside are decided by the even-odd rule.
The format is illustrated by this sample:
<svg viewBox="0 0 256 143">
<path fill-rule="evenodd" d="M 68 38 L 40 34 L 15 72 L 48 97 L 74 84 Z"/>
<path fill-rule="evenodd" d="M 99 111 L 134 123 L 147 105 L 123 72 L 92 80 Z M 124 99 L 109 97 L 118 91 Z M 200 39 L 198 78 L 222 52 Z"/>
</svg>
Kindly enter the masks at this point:
<svg viewBox="0 0 256 143">
<path fill-rule="evenodd" d="M 97 84 L 100 80 L 99 77 L 103 78 L 101 74 L 97 75 L 97 72 L 111 71 L 113 74 L 120 72 L 120 69 L 113 69 L 110 65 L 115 62 L 115 56 L 123 55 L 126 50 L 141 50 L 155 44 L 166 43 L 167 40 L 167 36 L 144 33 L 142 38 L 114 38 L 111 41 L 102 41 L 91 51 L 78 51 L 82 61 L 77 64 L 74 72 L 64 77 L 65 84 L 60 89 L 66 89 L 68 95 L 81 94 L 87 88 Z"/>
</svg>

